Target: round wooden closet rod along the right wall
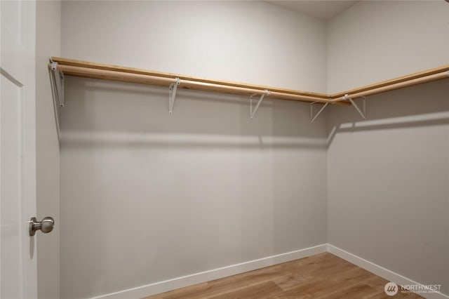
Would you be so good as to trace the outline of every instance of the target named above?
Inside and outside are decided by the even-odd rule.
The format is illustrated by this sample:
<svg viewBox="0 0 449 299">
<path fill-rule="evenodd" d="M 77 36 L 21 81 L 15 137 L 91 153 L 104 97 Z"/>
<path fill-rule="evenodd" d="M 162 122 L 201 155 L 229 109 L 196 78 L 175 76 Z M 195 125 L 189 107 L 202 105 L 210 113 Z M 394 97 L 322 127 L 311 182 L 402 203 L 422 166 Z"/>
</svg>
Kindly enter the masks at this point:
<svg viewBox="0 0 449 299">
<path fill-rule="evenodd" d="M 436 74 L 430 74 L 425 77 L 419 77 L 416 79 L 410 79 L 408 81 L 401 81 L 401 82 L 398 82 L 395 84 L 380 86 L 377 88 L 371 88 L 366 91 L 360 91 L 357 93 L 345 93 L 344 95 L 339 96 L 338 98 L 334 98 L 332 100 L 332 102 L 341 102 L 341 101 L 347 100 L 347 98 L 352 98 L 352 99 L 361 98 L 366 95 L 374 95 L 376 93 L 383 93 L 384 91 L 392 91 L 394 89 L 403 88 L 403 87 L 407 87 L 407 86 L 413 86 L 413 85 L 422 84 L 422 83 L 426 83 L 429 81 L 435 81 L 435 80 L 439 80 L 439 79 L 445 79 L 448 77 L 449 77 L 449 71 L 440 72 L 440 73 L 436 73 Z"/>
</svg>

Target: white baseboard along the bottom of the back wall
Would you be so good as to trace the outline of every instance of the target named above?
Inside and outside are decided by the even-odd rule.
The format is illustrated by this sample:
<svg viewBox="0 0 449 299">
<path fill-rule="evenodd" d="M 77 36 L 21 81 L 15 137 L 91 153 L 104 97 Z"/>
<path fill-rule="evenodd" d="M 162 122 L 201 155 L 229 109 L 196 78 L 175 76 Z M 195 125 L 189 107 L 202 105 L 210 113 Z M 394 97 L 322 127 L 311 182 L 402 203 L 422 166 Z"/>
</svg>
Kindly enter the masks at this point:
<svg viewBox="0 0 449 299">
<path fill-rule="evenodd" d="M 128 298 L 142 298 L 149 295 L 156 295 L 159 293 L 172 291 L 177 288 L 184 288 L 185 286 L 192 286 L 193 284 L 201 284 L 202 282 L 228 277 L 243 272 L 257 270 L 263 267 L 268 267 L 280 263 L 289 262 L 290 260 L 297 260 L 306 258 L 310 255 L 324 253 L 328 251 L 327 244 L 321 244 L 309 248 L 300 249 L 297 251 L 290 251 L 288 253 L 281 253 L 279 255 L 272 255 L 267 258 L 260 258 L 258 260 L 250 260 L 249 262 L 221 267 L 214 270 L 177 277 L 175 279 L 168 279 L 166 281 L 156 282 L 154 284 L 147 284 L 146 286 L 138 286 L 137 288 L 129 288 L 128 290 L 119 291 L 116 293 L 109 293 L 100 295 L 91 299 L 128 299 Z"/>
</svg>

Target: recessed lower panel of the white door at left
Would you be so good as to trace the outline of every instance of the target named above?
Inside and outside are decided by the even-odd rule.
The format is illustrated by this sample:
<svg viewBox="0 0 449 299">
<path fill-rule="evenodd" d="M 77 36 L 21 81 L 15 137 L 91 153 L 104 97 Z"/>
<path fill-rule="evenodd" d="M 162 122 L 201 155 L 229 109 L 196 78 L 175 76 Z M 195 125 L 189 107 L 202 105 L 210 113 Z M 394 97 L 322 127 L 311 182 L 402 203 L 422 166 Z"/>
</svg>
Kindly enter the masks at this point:
<svg viewBox="0 0 449 299">
<path fill-rule="evenodd" d="M 20 87 L 1 75 L 1 298 L 23 298 Z"/>
</svg>

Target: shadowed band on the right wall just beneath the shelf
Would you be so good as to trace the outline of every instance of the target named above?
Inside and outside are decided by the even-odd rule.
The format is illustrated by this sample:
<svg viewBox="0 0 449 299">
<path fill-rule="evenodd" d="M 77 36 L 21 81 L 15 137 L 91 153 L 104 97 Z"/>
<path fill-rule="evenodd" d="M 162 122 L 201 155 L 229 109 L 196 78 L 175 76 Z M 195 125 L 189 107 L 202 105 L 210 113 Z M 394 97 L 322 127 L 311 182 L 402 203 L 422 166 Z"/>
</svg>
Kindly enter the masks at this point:
<svg viewBox="0 0 449 299">
<path fill-rule="evenodd" d="M 361 105 L 361 99 L 356 99 Z M 328 112 L 328 147 L 337 133 L 449 124 L 449 80 L 389 91 L 366 98 L 366 119 L 354 107 L 335 105 Z"/>
</svg>

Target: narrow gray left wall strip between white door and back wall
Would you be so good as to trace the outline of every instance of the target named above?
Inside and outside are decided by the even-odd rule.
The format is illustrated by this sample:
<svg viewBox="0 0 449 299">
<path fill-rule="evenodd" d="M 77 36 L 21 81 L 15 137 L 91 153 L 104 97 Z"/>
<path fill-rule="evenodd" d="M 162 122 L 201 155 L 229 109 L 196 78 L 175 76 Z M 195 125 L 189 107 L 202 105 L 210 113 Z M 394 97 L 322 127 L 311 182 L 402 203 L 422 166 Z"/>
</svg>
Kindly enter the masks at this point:
<svg viewBox="0 0 449 299">
<path fill-rule="evenodd" d="M 52 216 L 51 234 L 37 234 L 38 298 L 60 298 L 60 152 L 48 58 L 60 55 L 60 1 L 36 1 L 37 218 Z"/>
</svg>

